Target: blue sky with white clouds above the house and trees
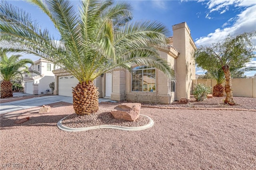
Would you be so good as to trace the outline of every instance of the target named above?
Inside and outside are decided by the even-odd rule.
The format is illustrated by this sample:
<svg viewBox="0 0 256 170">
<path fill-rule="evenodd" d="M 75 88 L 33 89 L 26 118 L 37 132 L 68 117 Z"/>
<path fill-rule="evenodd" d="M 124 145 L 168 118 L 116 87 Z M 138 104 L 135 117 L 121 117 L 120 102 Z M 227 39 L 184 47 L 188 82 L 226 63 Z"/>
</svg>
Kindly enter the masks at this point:
<svg viewBox="0 0 256 170">
<path fill-rule="evenodd" d="M 172 25 L 186 21 L 196 46 L 209 46 L 222 41 L 227 35 L 238 35 L 256 30 L 256 0 L 127 0 L 133 6 L 134 20 L 156 20 L 164 23 L 170 31 Z M 47 28 L 58 37 L 50 19 L 37 7 L 22 1 L 8 0 L 32 14 L 42 28 Z M 78 5 L 77 0 L 73 0 Z M 256 46 L 256 37 L 253 39 Z M 24 55 L 33 61 L 39 59 L 34 55 Z M 256 58 L 246 66 L 256 66 Z M 196 68 L 196 74 L 205 70 Z M 245 72 L 253 76 L 256 71 Z"/>
</svg>

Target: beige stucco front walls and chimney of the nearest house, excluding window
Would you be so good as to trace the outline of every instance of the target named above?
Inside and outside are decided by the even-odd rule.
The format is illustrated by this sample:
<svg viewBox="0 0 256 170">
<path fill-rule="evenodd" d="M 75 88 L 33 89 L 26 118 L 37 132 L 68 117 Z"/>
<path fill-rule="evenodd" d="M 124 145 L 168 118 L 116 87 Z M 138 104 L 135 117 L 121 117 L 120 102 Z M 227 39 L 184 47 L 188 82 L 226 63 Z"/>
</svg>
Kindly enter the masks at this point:
<svg viewBox="0 0 256 170">
<path fill-rule="evenodd" d="M 190 29 L 185 22 L 174 25 L 173 32 L 174 35 L 173 38 L 170 38 L 169 45 L 174 47 L 170 47 L 169 51 L 159 50 L 159 53 L 160 57 L 166 59 L 172 69 L 175 70 L 175 92 L 171 92 L 171 81 L 159 70 L 156 70 L 156 92 L 132 92 L 130 72 L 123 71 L 121 75 L 116 71 L 113 72 L 112 100 L 127 99 L 149 102 L 152 98 L 158 98 L 159 103 L 169 104 L 174 100 L 180 100 L 182 97 L 190 98 L 192 80 L 196 77 L 193 58 L 196 46 L 190 36 Z"/>
</svg>

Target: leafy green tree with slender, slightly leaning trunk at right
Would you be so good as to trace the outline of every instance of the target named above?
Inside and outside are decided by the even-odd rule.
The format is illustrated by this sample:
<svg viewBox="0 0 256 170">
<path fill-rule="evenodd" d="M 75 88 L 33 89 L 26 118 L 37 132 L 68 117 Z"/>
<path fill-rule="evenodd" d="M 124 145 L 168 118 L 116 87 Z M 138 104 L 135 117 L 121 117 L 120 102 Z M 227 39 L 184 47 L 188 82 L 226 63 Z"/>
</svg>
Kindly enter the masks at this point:
<svg viewBox="0 0 256 170">
<path fill-rule="evenodd" d="M 212 43 L 209 47 L 198 47 L 194 53 L 195 61 L 199 67 L 205 70 L 222 68 L 226 80 L 225 104 L 235 104 L 231 72 L 242 68 L 255 56 L 255 46 L 252 43 L 252 37 L 255 35 L 256 31 L 245 32 L 236 36 L 228 35 L 222 42 Z"/>
</svg>

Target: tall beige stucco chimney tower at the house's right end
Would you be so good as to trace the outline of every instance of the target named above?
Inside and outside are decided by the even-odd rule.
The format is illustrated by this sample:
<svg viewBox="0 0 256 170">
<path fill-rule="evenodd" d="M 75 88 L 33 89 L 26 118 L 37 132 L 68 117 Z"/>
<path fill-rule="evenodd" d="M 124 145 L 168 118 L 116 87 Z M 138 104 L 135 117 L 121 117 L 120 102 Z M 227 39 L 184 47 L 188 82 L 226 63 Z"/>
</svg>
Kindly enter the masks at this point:
<svg viewBox="0 0 256 170">
<path fill-rule="evenodd" d="M 186 22 L 172 26 L 173 46 L 180 52 L 176 59 L 176 86 L 174 100 L 190 98 L 192 80 L 196 77 L 196 67 L 193 52 L 196 50 Z"/>
</svg>

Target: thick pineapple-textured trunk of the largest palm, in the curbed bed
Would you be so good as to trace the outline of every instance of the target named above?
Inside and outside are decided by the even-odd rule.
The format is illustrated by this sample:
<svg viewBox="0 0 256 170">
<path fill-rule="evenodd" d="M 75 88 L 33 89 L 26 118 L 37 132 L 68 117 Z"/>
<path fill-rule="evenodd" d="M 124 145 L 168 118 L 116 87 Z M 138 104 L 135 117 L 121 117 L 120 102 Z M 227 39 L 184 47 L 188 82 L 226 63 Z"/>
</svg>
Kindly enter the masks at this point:
<svg viewBox="0 0 256 170">
<path fill-rule="evenodd" d="M 98 111 L 98 88 L 93 81 L 78 83 L 73 88 L 73 107 L 78 115 L 89 115 Z"/>
</svg>

